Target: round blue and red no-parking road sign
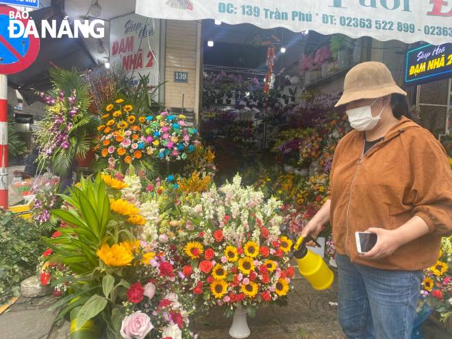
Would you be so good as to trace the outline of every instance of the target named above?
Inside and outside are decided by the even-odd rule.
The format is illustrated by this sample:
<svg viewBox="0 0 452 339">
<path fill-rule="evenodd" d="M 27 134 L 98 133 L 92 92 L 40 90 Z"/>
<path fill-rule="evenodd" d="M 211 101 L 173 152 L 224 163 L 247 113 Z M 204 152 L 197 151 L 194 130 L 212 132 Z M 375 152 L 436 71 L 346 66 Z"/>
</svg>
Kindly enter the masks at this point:
<svg viewBox="0 0 452 339">
<path fill-rule="evenodd" d="M 30 34 L 27 37 L 10 38 L 8 26 L 10 13 L 17 10 L 0 5 L 0 74 L 14 74 L 33 64 L 39 53 L 39 38 Z M 19 14 L 20 15 L 20 14 Z M 27 27 L 27 18 L 18 18 Z"/>
</svg>

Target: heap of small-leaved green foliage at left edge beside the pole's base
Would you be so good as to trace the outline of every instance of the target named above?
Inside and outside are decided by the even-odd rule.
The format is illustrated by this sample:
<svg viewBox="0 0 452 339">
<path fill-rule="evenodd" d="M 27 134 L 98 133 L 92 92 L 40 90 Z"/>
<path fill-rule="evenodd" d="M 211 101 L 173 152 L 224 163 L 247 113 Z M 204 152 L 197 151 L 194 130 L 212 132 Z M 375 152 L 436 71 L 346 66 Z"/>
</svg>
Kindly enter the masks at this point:
<svg viewBox="0 0 452 339">
<path fill-rule="evenodd" d="M 36 273 L 44 251 L 39 239 L 40 231 L 32 223 L 0 210 L 0 304 L 18 295 L 20 282 Z"/>
</svg>

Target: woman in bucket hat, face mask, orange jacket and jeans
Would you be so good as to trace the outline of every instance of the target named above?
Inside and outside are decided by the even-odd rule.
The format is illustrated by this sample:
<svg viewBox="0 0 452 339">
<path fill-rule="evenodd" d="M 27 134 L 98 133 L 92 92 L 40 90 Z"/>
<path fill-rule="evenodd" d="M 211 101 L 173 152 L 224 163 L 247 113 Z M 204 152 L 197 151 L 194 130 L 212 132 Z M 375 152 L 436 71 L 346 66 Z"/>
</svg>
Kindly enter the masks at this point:
<svg viewBox="0 0 452 339">
<path fill-rule="evenodd" d="M 422 270 L 433 266 L 441 236 L 452 233 L 452 171 L 426 129 L 393 112 L 406 95 L 388 68 L 351 69 L 337 106 L 353 131 L 334 153 L 329 200 L 303 229 L 331 223 L 338 264 L 339 321 L 351 339 L 411 338 Z M 377 234 L 357 253 L 356 231 Z"/>
</svg>

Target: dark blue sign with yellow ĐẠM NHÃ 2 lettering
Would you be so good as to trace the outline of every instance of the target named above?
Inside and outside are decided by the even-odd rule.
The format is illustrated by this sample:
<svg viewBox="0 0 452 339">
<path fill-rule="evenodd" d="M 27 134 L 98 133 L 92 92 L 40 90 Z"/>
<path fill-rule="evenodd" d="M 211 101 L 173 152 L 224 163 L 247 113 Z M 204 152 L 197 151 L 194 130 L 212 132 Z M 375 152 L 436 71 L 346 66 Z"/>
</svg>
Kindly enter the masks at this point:
<svg viewBox="0 0 452 339">
<path fill-rule="evenodd" d="M 424 45 L 407 51 L 405 84 L 422 84 L 452 77 L 452 44 Z"/>
</svg>

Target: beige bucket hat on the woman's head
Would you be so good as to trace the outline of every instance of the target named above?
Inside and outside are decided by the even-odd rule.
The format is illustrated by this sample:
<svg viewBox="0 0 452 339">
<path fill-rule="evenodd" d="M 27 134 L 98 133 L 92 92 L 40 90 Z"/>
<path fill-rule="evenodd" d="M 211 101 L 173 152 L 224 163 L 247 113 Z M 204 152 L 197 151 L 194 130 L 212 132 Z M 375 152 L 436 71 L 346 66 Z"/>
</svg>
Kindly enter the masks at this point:
<svg viewBox="0 0 452 339">
<path fill-rule="evenodd" d="M 392 93 L 407 95 L 397 86 L 388 67 L 381 62 L 362 62 L 345 75 L 344 92 L 335 107 L 360 99 L 381 98 Z"/>
</svg>

